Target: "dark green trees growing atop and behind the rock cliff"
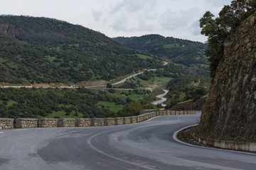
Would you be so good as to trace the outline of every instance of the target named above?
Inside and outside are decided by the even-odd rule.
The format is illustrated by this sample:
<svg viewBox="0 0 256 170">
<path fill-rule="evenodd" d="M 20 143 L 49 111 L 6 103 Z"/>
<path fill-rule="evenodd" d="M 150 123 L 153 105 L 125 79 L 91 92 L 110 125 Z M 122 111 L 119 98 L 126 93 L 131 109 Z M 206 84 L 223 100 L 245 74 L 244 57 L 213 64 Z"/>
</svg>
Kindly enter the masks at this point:
<svg viewBox="0 0 256 170">
<path fill-rule="evenodd" d="M 209 57 L 210 62 L 210 77 L 215 76 L 223 57 L 223 42 L 228 40 L 241 23 L 255 11 L 255 0 L 235 0 L 230 6 L 224 6 L 217 18 L 207 11 L 200 19 L 201 34 L 208 36 L 206 56 Z"/>
</svg>

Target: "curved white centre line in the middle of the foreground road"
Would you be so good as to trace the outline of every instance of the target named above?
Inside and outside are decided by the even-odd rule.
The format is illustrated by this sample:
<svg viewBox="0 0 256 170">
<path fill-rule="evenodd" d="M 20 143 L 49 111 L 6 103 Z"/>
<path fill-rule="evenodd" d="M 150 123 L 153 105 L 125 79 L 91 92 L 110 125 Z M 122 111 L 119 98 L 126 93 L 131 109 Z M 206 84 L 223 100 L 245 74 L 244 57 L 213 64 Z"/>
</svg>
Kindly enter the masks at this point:
<svg viewBox="0 0 256 170">
<path fill-rule="evenodd" d="M 110 130 L 110 131 L 112 131 L 112 130 Z M 108 132 L 109 132 L 109 131 L 108 131 Z M 111 154 L 107 154 L 106 152 L 103 152 L 102 150 L 97 149 L 95 146 L 92 145 L 92 142 L 91 142 L 91 141 L 92 141 L 92 139 L 93 139 L 94 137 L 96 137 L 97 135 L 101 135 L 102 133 L 105 133 L 105 132 L 97 133 L 97 134 L 91 136 L 91 137 L 87 140 L 87 144 L 89 145 L 90 148 L 92 148 L 92 149 L 95 150 L 96 152 L 99 152 L 100 154 L 104 154 L 105 156 L 110 157 L 110 158 L 115 159 L 115 160 L 120 161 L 120 162 L 124 162 L 124 163 L 127 163 L 127 164 L 131 164 L 131 165 L 134 165 L 134 166 L 138 166 L 138 167 L 141 167 L 141 168 L 143 168 L 143 169 L 157 170 L 157 169 L 153 169 L 153 168 L 151 168 L 151 167 L 149 167 L 149 166 L 144 166 L 144 165 L 142 165 L 142 164 L 137 164 L 137 163 L 134 163 L 134 162 L 129 162 L 129 161 L 127 161 L 127 160 L 125 160 L 125 159 L 122 159 L 122 158 L 119 158 L 119 157 L 114 157 L 114 156 L 111 155 Z"/>
</svg>

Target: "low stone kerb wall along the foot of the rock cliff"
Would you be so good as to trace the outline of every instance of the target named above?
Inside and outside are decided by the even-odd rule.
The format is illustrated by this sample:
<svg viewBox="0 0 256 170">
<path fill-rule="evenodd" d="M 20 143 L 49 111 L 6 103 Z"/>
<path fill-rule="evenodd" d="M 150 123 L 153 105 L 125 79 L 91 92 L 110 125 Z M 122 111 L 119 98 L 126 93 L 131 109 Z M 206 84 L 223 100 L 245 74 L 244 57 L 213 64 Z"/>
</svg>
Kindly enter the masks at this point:
<svg viewBox="0 0 256 170">
<path fill-rule="evenodd" d="M 215 140 L 208 137 L 202 137 L 196 133 L 191 133 L 192 137 L 203 145 L 221 149 L 232 149 L 247 152 L 256 152 L 256 142 L 235 142 L 232 140 Z"/>
</svg>

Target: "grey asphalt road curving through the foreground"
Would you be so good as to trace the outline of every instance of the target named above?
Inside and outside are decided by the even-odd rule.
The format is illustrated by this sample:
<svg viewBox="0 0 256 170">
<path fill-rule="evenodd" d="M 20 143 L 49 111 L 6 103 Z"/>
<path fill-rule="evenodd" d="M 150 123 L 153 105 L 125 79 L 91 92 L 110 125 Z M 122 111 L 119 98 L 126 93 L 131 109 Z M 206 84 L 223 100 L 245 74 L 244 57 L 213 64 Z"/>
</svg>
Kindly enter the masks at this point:
<svg viewBox="0 0 256 170">
<path fill-rule="evenodd" d="M 197 115 L 88 128 L 0 130 L 0 169 L 255 169 L 256 154 L 198 148 L 173 139 Z"/>
</svg>

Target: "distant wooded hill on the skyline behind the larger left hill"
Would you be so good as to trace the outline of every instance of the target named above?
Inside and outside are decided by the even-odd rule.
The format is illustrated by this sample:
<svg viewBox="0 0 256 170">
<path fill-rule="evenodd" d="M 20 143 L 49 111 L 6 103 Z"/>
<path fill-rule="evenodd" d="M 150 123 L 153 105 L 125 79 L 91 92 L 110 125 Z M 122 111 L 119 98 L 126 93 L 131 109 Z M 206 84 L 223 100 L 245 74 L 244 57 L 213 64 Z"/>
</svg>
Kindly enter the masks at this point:
<svg viewBox="0 0 256 170">
<path fill-rule="evenodd" d="M 208 64 L 204 51 L 206 44 L 193 42 L 191 40 L 181 40 L 161 35 L 144 35 L 141 37 L 114 38 L 117 42 L 134 50 L 149 52 L 151 55 L 161 57 L 178 64 L 191 66 L 193 64 Z"/>
</svg>

